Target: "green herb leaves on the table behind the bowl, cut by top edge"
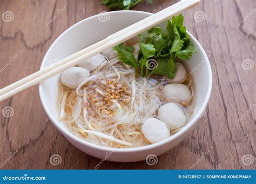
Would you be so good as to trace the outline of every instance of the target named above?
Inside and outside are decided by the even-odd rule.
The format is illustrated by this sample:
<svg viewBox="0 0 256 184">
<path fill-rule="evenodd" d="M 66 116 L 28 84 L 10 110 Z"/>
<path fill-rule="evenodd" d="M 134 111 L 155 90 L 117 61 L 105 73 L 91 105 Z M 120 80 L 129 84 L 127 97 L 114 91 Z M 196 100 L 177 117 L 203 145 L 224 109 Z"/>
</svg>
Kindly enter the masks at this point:
<svg viewBox="0 0 256 184">
<path fill-rule="evenodd" d="M 146 0 L 152 3 L 153 0 Z M 142 0 L 103 0 L 102 4 L 107 5 L 110 9 L 129 10 L 132 6 L 141 3 Z"/>
</svg>

